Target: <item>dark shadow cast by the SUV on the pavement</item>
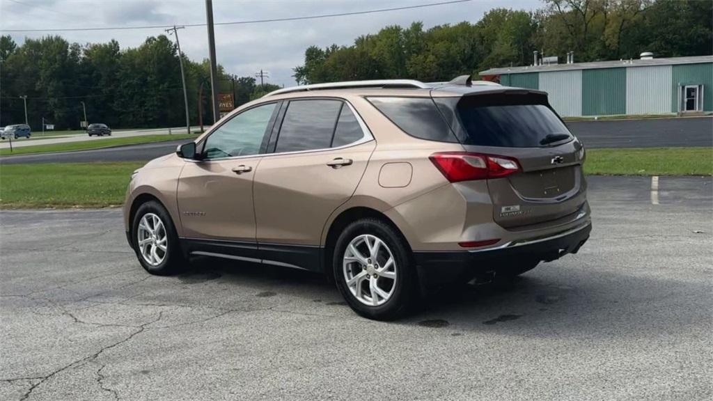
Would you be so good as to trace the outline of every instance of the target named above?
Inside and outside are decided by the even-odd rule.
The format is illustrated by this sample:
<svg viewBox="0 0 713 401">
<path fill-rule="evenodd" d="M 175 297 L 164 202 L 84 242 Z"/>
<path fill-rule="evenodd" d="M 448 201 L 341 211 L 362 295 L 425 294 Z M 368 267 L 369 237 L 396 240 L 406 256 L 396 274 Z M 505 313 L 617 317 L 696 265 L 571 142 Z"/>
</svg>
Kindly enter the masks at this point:
<svg viewBox="0 0 713 401">
<path fill-rule="evenodd" d="M 262 288 L 257 297 L 289 293 L 293 300 L 349 308 L 340 302 L 337 288 L 317 273 L 212 258 L 198 258 L 192 265 L 178 276 L 183 283 L 220 279 L 236 290 Z M 444 288 L 429 295 L 414 313 L 384 324 L 419 325 L 451 335 L 655 337 L 709 319 L 710 288 L 705 280 L 545 264 L 511 282 Z M 291 302 L 295 308 L 307 305 L 298 300 Z"/>
</svg>

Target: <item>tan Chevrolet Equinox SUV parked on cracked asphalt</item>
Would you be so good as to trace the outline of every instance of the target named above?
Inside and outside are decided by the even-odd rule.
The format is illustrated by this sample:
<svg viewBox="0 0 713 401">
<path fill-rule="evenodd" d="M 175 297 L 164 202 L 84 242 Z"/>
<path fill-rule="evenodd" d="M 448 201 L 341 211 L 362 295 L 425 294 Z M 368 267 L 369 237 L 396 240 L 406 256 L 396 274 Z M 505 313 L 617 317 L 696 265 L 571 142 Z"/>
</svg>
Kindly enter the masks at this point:
<svg viewBox="0 0 713 401">
<path fill-rule="evenodd" d="M 547 94 L 463 76 L 285 88 L 133 173 L 126 235 L 150 273 L 205 255 L 327 273 L 360 315 L 511 277 L 591 230 L 580 141 Z"/>
</svg>

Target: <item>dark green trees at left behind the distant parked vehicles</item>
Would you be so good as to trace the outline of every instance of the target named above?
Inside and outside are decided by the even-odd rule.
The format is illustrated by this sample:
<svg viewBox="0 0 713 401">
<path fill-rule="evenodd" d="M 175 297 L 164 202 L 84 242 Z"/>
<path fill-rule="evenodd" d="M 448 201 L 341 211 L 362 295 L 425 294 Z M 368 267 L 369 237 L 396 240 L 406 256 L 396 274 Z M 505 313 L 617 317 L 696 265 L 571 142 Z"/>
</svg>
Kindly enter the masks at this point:
<svg viewBox="0 0 713 401">
<path fill-rule="evenodd" d="M 210 64 L 185 55 L 183 62 L 191 124 L 198 124 L 199 93 L 202 120 L 210 124 Z M 253 77 L 231 75 L 222 66 L 218 75 L 220 93 L 235 93 L 236 105 L 263 94 Z M 275 88 L 265 85 L 265 91 Z M 17 46 L 10 36 L 0 36 L 0 126 L 25 122 L 19 96 L 27 96 L 34 131 L 43 119 L 57 129 L 79 128 L 84 108 L 90 123 L 111 128 L 185 125 L 178 49 L 164 35 L 123 50 L 114 40 L 80 45 L 45 36 Z"/>
</svg>

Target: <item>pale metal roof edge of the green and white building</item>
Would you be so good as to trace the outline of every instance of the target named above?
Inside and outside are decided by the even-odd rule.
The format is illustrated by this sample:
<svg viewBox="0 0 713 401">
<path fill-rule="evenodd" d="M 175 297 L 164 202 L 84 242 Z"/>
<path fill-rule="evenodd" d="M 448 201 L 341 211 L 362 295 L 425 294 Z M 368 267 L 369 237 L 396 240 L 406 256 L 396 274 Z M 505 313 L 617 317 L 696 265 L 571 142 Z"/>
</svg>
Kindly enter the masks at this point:
<svg viewBox="0 0 713 401">
<path fill-rule="evenodd" d="M 713 56 L 671 57 L 669 59 L 631 59 L 614 61 L 593 61 L 590 63 L 550 64 L 547 66 L 523 66 L 490 68 L 481 71 L 483 75 L 497 75 L 502 73 L 550 72 L 586 70 L 592 68 L 617 68 L 617 67 L 644 67 L 644 66 L 671 66 L 674 64 L 699 64 L 713 63 Z"/>
</svg>

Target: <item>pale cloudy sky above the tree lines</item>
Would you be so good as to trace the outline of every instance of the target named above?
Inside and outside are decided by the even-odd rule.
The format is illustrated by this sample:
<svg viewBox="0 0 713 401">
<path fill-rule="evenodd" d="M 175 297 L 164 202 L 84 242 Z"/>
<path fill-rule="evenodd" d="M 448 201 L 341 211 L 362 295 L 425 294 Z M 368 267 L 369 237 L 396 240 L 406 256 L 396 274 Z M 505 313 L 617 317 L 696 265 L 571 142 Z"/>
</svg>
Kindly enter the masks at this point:
<svg viewBox="0 0 713 401">
<path fill-rule="evenodd" d="M 386 9 L 443 0 L 214 0 L 215 22 L 279 19 Z M 422 21 L 426 28 L 460 21 L 475 22 L 489 9 L 537 9 L 539 0 L 473 0 L 421 9 L 342 16 L 304 21 L 216 26 L 217 61 L 228 72 L 253 76 L 270 71 L 270 82 L 292 86 L 292 68 L 304 61 L 308 46 L 349 45 L 356 36 L 376 33 L 386 25 L 408 26 Z M 0 0 L 0 31 L 205 23 L 203 0 Z M 3 32 L 5 34 L 5 32 Z M 70 42 L 106 42 L 116 39 L 122 48 L 135 47 L 163 29 L 11 32 L 21 44 L 26 37 L 60 34 Z M 205 26 L 179 31 L 181 48 L 193 60 L 207 58 Z"/>
</svg>

